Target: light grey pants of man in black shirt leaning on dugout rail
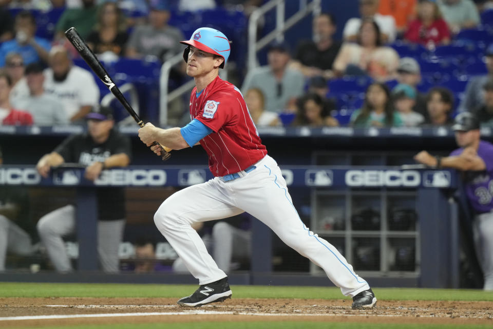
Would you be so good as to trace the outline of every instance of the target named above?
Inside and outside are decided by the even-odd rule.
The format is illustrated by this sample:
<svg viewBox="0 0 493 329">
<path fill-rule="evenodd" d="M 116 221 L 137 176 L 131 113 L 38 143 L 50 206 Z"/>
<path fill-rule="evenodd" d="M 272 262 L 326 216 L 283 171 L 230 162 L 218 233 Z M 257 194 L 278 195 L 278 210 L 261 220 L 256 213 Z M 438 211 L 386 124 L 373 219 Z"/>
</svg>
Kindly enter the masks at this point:
<svg viewBox="0 0 493 329">
<path fill-rule="evenodd" d="M 59 272 L 72 271 L 62 237 L 75 232 L 75 207 L 67 205 L 53 210 L 41 217 L 36 227 L 55 269 Z M 98 221 L 98 255 L 105 272 L 120 270 L 118 249 L 124 227 L 125 220 Z"/>
</svg>

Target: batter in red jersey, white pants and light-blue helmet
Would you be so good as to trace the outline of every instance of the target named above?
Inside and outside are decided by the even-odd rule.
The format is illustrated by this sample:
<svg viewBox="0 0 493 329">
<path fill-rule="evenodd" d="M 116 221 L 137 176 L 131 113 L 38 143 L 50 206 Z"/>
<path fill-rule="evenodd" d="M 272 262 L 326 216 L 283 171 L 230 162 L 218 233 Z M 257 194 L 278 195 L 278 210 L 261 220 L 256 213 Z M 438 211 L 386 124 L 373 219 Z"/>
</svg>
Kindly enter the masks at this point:
<svg viewBox="0 0 493 329">
<path fill-rule="evenodd" d="M 157 141 L 173 150 L 200 143 L 214 178 L 193 185 L 167 198 L 154 215 L 154 222 L 173 246 L 200 287 L 178 301 L 201 306 L 231 298 L 226 274 L 218 268 L 197 232 L 195 222 L 248 212 L 268 225 L 287 245 L 325 270 L 353 308 L 372 307 L 375 295 L 342 254 L 300 220 L 286 181 L 276 161 L 267 154 L 239 89 L 219 78 L 230 56 L 230 42 L 212 28 L 199 28 L 187 45 L 183 59 L 186 74 L 195 80 L 190 97 L 192 121 L 182 128 L 160 129 L 147 123 L 140 139 L 160 154 Z"/>
</svg>

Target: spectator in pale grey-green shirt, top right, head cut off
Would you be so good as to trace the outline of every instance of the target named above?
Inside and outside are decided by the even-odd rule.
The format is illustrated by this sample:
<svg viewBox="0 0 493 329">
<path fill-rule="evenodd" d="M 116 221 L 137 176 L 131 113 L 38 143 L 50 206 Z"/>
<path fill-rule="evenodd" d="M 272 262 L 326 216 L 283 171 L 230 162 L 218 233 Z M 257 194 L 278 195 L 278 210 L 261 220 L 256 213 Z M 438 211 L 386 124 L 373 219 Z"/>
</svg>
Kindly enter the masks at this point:
<svg viewBox="0 0 493 329">
<path fill-rule="evenodd" d="M 452 33 L 475 28 L 481 23 L 478 8 L 471 0 L 438 0 L 440 11 Z"/>
</svg>

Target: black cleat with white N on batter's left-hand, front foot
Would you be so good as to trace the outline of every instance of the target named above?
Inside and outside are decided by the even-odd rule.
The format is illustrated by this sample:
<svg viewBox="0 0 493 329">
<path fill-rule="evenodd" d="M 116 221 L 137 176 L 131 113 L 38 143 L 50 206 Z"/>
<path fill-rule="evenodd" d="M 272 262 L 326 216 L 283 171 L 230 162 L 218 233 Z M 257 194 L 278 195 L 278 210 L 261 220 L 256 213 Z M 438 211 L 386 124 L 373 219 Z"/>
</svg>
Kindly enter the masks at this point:
<svg viewBox="0 0 493 329">
<path fill-rule="evenodd" d="M 227 277 L 225 277 L 224 279 L 201 285 L 195 290 L 195 293 L 180 299 L 178 305 L 198 307 L 208 303 L 222 302 L 231 298 L 231 295 L 230 285 L 227 282 Z"/>
</svg>

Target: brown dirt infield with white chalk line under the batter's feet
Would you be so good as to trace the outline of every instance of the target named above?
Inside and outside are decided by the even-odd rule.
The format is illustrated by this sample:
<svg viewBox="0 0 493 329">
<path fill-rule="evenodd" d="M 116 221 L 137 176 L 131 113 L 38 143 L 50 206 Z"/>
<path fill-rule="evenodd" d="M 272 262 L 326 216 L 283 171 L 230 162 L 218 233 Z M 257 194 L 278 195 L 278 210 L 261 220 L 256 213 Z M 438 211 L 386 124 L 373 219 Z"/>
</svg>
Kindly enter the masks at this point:
<svg viewBox="0 0 493 329">
<path fill-rule="evenodd" d="M 353 310 L 349 299 L 233 298 L 185 308 L 170 298 L 0 298 L 0 327 L 197 320 L 493 325 L 493 302 L 378 301 Z"/>
</svg>

